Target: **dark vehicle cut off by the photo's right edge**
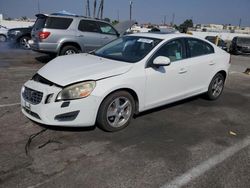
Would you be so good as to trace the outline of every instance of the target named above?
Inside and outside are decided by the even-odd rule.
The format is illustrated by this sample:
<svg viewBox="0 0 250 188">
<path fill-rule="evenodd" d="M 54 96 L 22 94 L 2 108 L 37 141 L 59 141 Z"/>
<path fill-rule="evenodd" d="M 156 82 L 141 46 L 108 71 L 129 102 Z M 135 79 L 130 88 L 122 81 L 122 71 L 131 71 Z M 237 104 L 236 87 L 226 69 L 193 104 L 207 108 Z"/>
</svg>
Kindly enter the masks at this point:
<svg viewBox="0 0 250 188">
<path fill-rule="evenodd" d="M 234 37 L 230 46 L 230 53 L 250 54 L 250 37 Z"/>
</svg>

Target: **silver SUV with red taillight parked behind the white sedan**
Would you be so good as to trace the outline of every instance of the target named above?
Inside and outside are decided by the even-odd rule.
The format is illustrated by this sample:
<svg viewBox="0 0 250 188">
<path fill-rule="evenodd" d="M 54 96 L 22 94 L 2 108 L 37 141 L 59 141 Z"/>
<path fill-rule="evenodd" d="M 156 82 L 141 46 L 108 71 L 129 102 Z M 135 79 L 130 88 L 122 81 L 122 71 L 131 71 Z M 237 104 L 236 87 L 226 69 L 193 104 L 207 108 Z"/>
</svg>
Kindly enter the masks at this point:
<svg viewBox="0 0 250 188">
<path fill-rule="evenodd" d="M 135 23 L 126 22 L 126 28 L 118 25 L 123 30 L 116 30 L 109 23 L 97 19 L 53 14 L 36 16 L 31 35 L 33 41 L 30 43 L 32 50 L 56 55 L 97 49 L 116 39 Z"/>
</svg>

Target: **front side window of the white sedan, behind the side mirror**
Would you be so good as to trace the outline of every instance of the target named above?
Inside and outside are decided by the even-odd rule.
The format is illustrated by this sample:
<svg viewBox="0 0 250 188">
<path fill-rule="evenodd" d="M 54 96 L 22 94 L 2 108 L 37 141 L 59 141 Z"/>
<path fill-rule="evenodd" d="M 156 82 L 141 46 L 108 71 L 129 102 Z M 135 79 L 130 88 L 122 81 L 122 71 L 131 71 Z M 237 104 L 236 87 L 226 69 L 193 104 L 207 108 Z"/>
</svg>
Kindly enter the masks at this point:
<svg viewBox="0 0 250 188">
<path fill-rule="evenodd" d="M 181 39 L 175 39 L 164 44 L 160 49 L 153 55 L 153 61 L 158 56 L 165 56 L 170 59 L 171 62 L 184 59 L 186 57 L 185 48 Z M 150 62 L 152 63 L 152 62 Z"/>
</svg>

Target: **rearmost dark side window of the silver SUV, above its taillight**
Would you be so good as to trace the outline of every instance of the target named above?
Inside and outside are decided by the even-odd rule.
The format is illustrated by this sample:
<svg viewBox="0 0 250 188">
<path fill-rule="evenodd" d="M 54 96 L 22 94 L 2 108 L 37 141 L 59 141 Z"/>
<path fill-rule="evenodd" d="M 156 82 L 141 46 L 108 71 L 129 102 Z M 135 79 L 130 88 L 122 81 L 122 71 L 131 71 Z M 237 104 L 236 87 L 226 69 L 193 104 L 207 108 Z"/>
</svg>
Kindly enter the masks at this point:
<svg viewBox="0 0 250 188">
<path fill-rule="evenodd" d="M 48 29 L 68 29 L 72 23 L 72 18 L 56 18 L 48 17 L 45 23 L 45 28 Z"/>
</svg>

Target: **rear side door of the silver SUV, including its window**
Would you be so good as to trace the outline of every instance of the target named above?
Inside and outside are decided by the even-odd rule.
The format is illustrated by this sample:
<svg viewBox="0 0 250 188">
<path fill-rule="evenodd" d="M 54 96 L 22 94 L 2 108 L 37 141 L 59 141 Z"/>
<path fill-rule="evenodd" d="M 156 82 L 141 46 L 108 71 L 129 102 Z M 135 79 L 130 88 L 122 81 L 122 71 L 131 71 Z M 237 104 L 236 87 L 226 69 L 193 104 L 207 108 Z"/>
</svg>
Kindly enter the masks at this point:
<svg viewBox="0 0 250 188">
<path fill-rule="evenodd" d="M 101 30 L 96 21 L 81 20 L 78 25 L 77 37 L 85 52 L 95 50 L 103 45 Z"/>
</svg>

